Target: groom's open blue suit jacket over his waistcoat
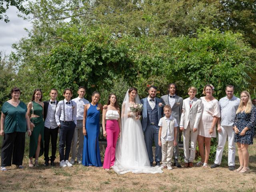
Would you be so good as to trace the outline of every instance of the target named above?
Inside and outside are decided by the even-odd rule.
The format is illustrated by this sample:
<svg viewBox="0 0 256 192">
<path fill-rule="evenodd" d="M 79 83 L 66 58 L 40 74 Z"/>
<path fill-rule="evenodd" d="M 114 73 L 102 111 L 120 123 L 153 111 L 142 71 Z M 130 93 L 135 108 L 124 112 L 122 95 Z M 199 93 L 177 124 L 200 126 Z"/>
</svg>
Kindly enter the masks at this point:
<svg viewBox="0 0 256 192">
<path fill-rule="evenodd" d="M 148 108 L 147 108 L 147 103 L 148 102 L 147 102 L 147 98 L 148 97 L 143 98 L 142 100 L 140 100 L 140 102 L 143 104 L 142 119 L 141 119 L 143 132 L 145 132 L 145 130 L 147 128 L 147 124 L 148 124 Z M 162 118 L 163 107 L 159 107 L 158 103 L 162 103 L 162 99 L 156 98 L 156 105 L 157 105 L 157 109 L 158 109 L 158 122 L 159 122 L 160 118 Z"/>
</svg>

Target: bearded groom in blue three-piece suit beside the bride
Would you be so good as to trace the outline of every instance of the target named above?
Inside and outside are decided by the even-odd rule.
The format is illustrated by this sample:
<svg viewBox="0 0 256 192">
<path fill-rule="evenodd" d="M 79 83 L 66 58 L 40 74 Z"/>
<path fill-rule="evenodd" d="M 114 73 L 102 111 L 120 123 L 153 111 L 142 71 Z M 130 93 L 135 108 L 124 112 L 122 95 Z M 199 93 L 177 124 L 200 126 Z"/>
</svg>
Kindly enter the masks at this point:
<svg viewBox="0 0 256 192">
<path fill-rule="evenodd" d="M 158 145 L 158 122 L 160 118 L 162 118 L 163 109 L 162 100 L 160 98 L 156 98 L 156 92 L 157 88 L 155 86 L 150 86 L 148 90 L 148 97 L 140 100 L 140 102 L 143 104 L 141 124 L 144 132 L 144 139 L 146 143 L 150 166 L 153 166 L 154 161 L 152 151 L 153 141 L 156 146 L 156 166 L 160 166 L 160 161 L 162 158 L 162 150 L 161 147 Z"/>
</svg>

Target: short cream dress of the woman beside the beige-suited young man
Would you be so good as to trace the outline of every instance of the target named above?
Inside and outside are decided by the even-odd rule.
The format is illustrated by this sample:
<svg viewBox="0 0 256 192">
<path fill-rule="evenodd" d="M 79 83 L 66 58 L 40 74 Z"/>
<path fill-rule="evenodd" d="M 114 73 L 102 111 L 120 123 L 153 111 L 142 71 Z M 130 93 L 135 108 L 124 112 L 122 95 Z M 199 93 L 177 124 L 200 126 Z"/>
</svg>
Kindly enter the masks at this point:
<svg viewBox="0 0 256 192">
<path fill-rule="evenodd" d="M 220 104 L 217 99 L 206 101 L 205 97 L 201 97 L 200 100 L 202 100 L 202 116 L 199 122 L 198 135 L 216 137 L 216 128 L 212 134 L 209 134 L 209 130 L 212 127 L 214 116 L 220 117 Z"/>
</svg>

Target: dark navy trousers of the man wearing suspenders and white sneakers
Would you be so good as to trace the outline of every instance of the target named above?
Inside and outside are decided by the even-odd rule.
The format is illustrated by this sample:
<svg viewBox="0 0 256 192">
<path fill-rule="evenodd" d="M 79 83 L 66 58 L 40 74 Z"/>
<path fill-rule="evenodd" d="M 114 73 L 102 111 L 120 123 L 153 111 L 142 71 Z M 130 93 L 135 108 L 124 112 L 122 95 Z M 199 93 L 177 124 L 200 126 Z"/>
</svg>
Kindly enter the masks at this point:
<svg viewBox="0 0 256 192">
<path fill-rule="evenodd" d="M 74 135 L 76 124 L 74 121 L 60 121 L 60 141 L 59 141 L 59 152 L 60 152 L 60 161 L 68 160 L 71 142 Z M 66 146 L 65 154 L 64 148 Z"/>
</svg>

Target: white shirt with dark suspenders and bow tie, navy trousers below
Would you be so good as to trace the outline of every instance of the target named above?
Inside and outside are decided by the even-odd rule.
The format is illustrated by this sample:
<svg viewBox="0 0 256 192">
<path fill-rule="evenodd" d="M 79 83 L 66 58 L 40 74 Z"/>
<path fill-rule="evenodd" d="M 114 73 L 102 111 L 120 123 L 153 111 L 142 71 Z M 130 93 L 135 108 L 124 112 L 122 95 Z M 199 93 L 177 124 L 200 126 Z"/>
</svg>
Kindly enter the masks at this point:
<svg viewBox="0 0 256 192">
<path fill-rule="evenodd" d="M 76 102 L 72 102 L 70 100 L 70 104 L 66 104 L 67 100 L 64 99 L 64 105 L 65 105 L 65 121 L 74 121 L 75 124 L 77 124 L 76 121 Z M 73 104 L 73 108 L 72 108 Z M 63 111 L 63 100 L 58 102 L 58 105 L 56 107 L 56 113 L 55 113 L 55 120 L 57 125 L 60 125 L 60 120 L 64 121 L 64 111 Z M 73 118 L 72 118 L 73 114 Z"/>
</svg>

